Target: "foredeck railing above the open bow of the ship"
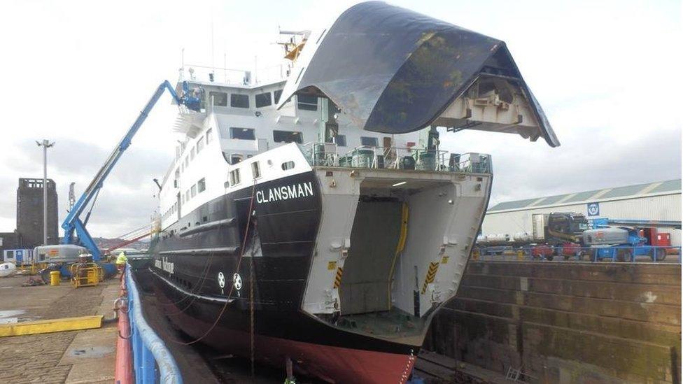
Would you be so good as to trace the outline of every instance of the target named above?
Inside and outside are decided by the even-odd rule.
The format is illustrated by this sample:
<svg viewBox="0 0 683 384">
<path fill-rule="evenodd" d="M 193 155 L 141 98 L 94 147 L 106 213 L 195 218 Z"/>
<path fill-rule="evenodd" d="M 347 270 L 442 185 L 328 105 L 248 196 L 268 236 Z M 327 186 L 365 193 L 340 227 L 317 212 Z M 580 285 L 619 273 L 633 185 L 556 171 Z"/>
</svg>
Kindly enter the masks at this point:
<svg viewBox="0 0 683 384">
<path fill-rule="evenodd" d="M 446 150 L 360 145 L 340 155 L 336 143 L 305 143 L 301 146 L 311 166 L 465 173 L 492 171 L 491 155 L 474 152 L 456 154 Z"/>
</svg>

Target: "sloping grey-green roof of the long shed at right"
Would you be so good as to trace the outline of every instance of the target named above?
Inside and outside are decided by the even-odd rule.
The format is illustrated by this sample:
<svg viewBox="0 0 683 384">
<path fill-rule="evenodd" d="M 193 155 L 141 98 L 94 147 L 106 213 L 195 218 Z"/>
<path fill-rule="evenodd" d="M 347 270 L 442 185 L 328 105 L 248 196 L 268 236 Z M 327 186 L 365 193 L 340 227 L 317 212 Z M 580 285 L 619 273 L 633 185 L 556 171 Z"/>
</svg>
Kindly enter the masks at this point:
<svg viewBox="0 0 683 384">
<path fill-rule="evenodd" d="M 605 188 L 585 192 L 573 192 L 556 194 L 554 196 L 537 197 L 535 199 L 523 199 L 504 201 L 488 208 L 487 212 L 508 211 L 523 208 L 538 208 L 541 206 L 560 206 L 576 204 L 582 201 L 628 199 L 634 197 L 649 196 L 652 194 L 668 194 L 681 192 L 681 179 L 657 181 L 654 183 L 625 185 L 622 187 Z"/>
</svg>

